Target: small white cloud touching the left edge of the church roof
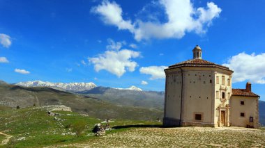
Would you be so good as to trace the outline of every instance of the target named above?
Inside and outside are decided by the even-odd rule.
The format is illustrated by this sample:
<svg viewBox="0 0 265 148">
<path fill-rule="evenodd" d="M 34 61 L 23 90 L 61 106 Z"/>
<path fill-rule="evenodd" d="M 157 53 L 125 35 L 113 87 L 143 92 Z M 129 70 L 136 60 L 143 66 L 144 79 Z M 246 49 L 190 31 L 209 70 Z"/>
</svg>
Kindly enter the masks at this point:
<svg viewBox="0 0 265 148">
<path fill-rule="evenodd" d="M 151 80 L 153 79 L 164 79 L 166 66 L 149 66 L 149 67 L 141 67 L 139 69 L 141 74 L 150 74 Z"/>
</svg>

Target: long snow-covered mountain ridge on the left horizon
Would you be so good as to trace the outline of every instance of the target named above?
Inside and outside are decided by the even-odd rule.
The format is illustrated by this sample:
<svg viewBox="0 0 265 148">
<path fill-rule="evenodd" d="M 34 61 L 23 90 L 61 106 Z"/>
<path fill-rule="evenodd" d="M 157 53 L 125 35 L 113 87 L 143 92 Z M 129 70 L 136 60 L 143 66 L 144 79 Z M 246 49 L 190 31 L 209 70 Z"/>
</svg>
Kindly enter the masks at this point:
<svg viewBox="0 0 265 148">
<path fill-rule="evenodd" d="M 63 90 L 69 90 L 73 92 L 79 92 L 84 90 L 91 90 L 92 88 L 96 88 L 96 84 L 89 83 L 51 83 L 51 82 L 43 82 L 43 81 L 27 81 L 16 83 L 16 85 L 21 85 L 25 87 L 48 87 L 58 89 L 61 88 Z"/>
</svg>

